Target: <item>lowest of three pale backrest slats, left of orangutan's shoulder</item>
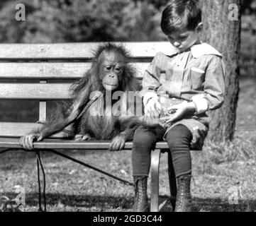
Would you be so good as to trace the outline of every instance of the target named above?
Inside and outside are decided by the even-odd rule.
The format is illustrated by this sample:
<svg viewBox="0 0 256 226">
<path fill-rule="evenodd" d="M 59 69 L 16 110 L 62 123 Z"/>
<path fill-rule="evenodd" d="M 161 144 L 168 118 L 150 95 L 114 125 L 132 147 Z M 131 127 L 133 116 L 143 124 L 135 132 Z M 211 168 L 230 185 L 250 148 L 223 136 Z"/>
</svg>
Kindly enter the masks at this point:
<svg viewBox="0 0 256 226">
<path fill-rule="evenodd" d="M 62 100 L 70 99 L 72 83 L 0 83 L 0 99 Z"/>
</svg>

